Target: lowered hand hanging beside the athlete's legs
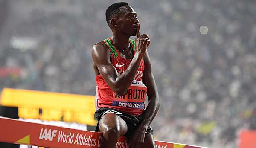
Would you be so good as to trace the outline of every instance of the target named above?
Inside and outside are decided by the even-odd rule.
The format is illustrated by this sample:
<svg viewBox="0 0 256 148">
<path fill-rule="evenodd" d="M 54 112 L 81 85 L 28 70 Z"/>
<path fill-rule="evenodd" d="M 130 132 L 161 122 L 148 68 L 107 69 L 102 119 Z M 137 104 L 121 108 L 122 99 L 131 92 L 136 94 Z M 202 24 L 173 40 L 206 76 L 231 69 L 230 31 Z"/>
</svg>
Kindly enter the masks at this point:
<svg viewBox="0 0 256 148">
<path fill-rule="evenodd" d="M 130 148 L 141 148 L 144 143 L 146 128 L 137 128 L 130 137 Z"/>
</svg>

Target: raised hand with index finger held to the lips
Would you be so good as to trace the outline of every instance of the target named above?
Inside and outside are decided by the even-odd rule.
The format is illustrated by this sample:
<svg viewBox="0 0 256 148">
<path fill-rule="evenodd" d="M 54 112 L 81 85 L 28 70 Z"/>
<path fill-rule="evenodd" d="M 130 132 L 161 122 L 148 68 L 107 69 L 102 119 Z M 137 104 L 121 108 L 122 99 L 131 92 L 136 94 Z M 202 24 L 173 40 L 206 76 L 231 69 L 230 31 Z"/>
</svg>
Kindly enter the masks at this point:
<svg viewBox="0 0 256 148">
<path fill-rule="evenodd" d="M 140 35 L 140 24 L 138 24 L 135 42 L 136 42 L 136 49 L 139 55 L 144 55 L 147 50 L 147 47 L 150 44 L 150 39 L 146 34 Z"/>
</svg>

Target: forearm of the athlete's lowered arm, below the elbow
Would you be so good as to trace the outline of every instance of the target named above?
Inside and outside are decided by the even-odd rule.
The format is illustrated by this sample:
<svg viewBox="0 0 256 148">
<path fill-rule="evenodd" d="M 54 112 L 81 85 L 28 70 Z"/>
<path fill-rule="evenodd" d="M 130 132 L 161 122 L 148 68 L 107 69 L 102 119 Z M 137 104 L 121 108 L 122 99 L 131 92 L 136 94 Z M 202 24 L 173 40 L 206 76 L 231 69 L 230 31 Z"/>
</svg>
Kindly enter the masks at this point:
<svg viewBox="0 0 256 148">
<path fill-rule="evenodd" d="M 140 128 L 147 129 L 148 126 L 153 121 L 154 117 L 157 114 L 157 111 L 160 107 L 159 98 L 158 96 L 154 96 L 148 102 L 148 106 L 144 112 L 142 122 L 140 124 Z"/>
</svg>

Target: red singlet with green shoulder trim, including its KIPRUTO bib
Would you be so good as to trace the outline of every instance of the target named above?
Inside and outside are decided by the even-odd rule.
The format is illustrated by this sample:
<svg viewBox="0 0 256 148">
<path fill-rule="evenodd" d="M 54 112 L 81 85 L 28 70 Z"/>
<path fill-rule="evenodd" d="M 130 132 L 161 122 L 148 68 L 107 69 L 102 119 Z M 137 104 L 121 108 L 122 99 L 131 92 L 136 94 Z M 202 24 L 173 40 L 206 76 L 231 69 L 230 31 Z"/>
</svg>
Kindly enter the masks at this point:
<svg viewBox="0 0 256 148">
<path fill-rule="evenodd" d="M 112 58 L 111 63 L 116 68 L 119 75 L 128 68 L 132 59 L 125 59 L 119 55 L 116 47 L 113 45 L 111 38 L 104 40 L 104 43 L 109 47 Z M 130 39 L 130 44 L 133 47 L 133 52 L 135 55 L 135 41 Z M 96 76 L 96 95 L 95 103 L 96 110 L 101 107 L 109 107 L 122 112 L 131 114 L 133 116 L 141 115 L 143 113 L 146 99 L 147 87 L 142 82 L 144 70 L 144 61 L 140 61 L 135 78 L 125 93 L 125 96 L 118 96 L 111 90 L 108 84 L 104 81 L 101 75 Z"/>
</svg>

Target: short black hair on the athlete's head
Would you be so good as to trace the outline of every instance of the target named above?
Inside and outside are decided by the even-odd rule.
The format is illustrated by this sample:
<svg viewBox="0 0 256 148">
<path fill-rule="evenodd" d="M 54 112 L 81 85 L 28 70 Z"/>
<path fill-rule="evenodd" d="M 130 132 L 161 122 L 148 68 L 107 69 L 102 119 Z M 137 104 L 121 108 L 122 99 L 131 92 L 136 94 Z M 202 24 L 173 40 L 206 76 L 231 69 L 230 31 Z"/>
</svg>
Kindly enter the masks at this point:
<svg viewBox="0 0 256 148">
<path fill-rule="evenodd" d="M 109 20 L 111 18 L 116 17 L 121 11 L 119 10 L 120 7 L 129 5 L 128 3 L 125 2 L 118 2 L 118 3 L 113 3 L 111 6 L 108 7 L 106 10 L 106 21 L 109 25 Z"/>
</svg>

